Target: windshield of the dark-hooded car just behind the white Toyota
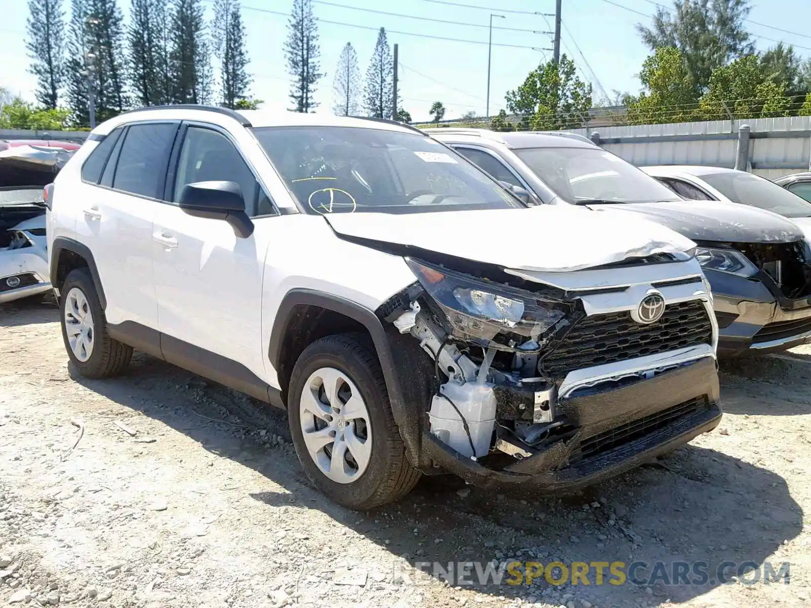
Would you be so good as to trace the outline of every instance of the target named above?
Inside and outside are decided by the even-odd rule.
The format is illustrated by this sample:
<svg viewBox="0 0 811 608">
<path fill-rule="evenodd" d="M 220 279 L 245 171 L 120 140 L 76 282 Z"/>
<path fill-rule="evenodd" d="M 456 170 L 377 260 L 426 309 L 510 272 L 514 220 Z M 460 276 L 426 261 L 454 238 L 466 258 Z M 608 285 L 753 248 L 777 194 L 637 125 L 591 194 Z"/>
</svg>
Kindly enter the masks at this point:
<svg viewBox="0 0 811 608">
<path fill-rule="evenodd" d="M 526 148 L 513 152 L 570 203 L 681 200 L 650 175 L 602 148 Z"/>
</svg>

